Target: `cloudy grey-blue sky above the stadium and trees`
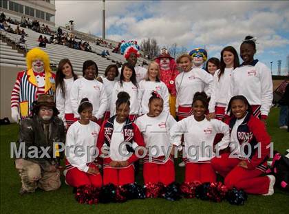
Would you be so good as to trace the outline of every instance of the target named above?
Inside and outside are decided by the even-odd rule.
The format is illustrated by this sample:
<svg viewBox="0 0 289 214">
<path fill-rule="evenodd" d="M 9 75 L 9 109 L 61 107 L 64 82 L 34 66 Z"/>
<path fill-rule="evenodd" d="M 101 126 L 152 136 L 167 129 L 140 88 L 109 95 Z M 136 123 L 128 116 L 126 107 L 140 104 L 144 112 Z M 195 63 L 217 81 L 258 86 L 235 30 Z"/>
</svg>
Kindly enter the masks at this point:
<svg viewBox="0 0 289 214">
<path fill-rule="evenodd" d="M 56 25 L 74 20 L 76 30 L 102 35 L 102 1 L 56 1 Z M 156 38 L 192 50 L 206 47 L 209 57 L 233 45 L 239 52 L 248 34 L 257 37 L 255 58 L 286 73 L 289 55 L 289 1 L 106 1 L 106 37 L 141 43 Z"/>
</svg>

